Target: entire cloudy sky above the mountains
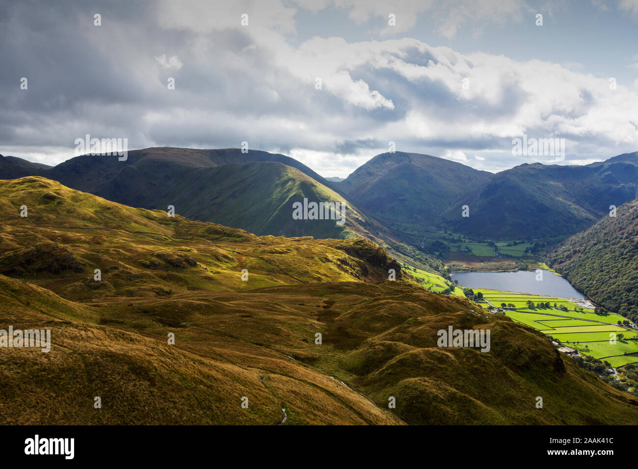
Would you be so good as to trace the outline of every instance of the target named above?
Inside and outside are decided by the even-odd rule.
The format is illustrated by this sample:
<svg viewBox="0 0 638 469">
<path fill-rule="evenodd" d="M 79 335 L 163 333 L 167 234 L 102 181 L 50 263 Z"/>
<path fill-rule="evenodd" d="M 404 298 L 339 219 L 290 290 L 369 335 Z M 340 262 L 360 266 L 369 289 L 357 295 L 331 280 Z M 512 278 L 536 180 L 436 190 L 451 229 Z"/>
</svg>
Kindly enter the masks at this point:
<svg viewBox="0 0 638 469">
<path fill-rule="evenodd" d="M 637 33 L 638 0 L 0 0 L 0 153 L 55 165 L 89 134 L 248 142 L 324 177 L 390 142 L 587 164 L 638 151 Z"/>
</svg>

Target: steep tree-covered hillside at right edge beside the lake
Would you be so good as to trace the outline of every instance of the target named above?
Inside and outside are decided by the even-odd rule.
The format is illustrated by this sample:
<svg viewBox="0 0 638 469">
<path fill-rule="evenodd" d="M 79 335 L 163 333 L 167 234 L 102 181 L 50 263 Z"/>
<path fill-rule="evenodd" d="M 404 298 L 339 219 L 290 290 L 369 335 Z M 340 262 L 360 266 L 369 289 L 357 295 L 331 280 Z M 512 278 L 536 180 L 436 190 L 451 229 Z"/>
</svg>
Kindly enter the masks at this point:
<svg viewBox="0 0 638 469">
<path fill-rule="evenodd" d="M 563 241 L 547 263 L 607 309 L 638 320 L 638 200 Z"/>
</svg>

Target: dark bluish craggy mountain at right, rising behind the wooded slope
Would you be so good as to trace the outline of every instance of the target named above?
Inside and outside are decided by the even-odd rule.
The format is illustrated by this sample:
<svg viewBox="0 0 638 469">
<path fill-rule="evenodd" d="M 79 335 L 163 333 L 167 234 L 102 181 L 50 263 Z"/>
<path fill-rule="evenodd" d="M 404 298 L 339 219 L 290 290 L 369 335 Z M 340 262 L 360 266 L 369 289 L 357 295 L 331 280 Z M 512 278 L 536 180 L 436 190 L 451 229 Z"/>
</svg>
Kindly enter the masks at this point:
<svg viewBox="0 0 638 469">
<path fill-rule="evenodd" d="M 443 218 L 454 231 L 490 239 L 567 236 L 636 197 L 638 153 L 586 166 L 524 163 L 464 193 Z"/>
</svg>

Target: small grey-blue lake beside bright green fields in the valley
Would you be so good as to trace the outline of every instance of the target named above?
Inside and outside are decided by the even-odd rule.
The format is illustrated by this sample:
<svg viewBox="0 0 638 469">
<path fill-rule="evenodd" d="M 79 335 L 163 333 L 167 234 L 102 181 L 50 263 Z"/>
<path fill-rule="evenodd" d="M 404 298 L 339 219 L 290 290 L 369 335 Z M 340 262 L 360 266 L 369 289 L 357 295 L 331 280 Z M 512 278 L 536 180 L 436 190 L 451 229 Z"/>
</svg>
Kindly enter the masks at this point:
<svg viewBox="0 0 638 469">
<path fill-rule="evenodd" d="M 503 292 L 584 299 L 581 292 L 572 287 L 565 278 L 550 271 L 543 271 L 542 281 L 537 281 L 536 271 L 457 272 L 450 274 L 450 277 L 452 280 L 458 280 L 459 285 L 468 288 L 490 288 Z"/>
</svg>

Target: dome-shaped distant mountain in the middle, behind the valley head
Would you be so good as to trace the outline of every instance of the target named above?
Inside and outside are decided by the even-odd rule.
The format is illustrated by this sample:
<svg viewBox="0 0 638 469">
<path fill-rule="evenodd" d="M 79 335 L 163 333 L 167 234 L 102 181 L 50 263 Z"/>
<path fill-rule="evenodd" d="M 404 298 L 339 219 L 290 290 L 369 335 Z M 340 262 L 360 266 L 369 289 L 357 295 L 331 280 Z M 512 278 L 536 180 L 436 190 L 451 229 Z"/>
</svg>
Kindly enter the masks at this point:
<svg viewBox="0 0 638 469">
<path fill-rule="evenodd" d="M 454 200 L 491 176 L 455 161 L 397 151 L 367 161 L 339 182 L 339 191 L 387 223 L 433 227 Z"/>
</svg>

